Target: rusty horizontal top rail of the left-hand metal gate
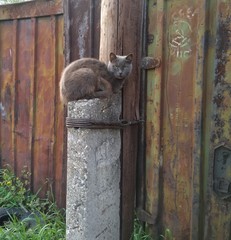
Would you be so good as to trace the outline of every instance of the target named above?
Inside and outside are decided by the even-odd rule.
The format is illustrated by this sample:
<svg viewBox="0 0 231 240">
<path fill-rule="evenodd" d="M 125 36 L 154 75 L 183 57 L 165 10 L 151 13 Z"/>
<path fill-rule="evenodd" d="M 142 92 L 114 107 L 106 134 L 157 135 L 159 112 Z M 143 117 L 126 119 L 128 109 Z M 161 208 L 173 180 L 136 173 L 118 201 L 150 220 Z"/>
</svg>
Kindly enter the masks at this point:
<svg viewBox="0 0 231 240">
<path fill-rule="evenodd" d="M 40 0 L 0 6 L 0 20 L 42 17 L 62 13 L 62 0 Z"/>
</svg>

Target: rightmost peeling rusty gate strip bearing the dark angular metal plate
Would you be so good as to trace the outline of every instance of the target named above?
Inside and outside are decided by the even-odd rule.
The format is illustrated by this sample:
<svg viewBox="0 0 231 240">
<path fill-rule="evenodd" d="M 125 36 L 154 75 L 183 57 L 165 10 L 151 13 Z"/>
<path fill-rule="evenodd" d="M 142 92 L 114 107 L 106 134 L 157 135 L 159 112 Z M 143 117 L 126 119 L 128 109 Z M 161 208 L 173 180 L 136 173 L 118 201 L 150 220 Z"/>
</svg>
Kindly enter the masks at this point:
<svg viewBox="0 0 231 240">
<path fill-rule="evenodd" d="M 211 1 L 204 118 L 204 239 L 231 239 L 231 2 Z"/>
</svg>

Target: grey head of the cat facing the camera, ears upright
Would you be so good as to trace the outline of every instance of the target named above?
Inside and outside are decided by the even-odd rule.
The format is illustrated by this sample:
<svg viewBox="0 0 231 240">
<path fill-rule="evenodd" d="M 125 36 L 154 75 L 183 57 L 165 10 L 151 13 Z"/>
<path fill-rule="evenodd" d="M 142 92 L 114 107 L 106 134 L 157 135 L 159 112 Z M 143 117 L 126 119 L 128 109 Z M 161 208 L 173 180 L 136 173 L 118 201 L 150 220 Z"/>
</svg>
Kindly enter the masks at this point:
<svg viewBox="0 0 231 240">
<path fill-rule="evenodd" d="M 127 56 L 119 56 L 110 53 L 110 60 L 108 63 L 108 71 L 117 79 L 124 79 L 132 71 L 132 57 L 130 53 Z"/>
</svg>

